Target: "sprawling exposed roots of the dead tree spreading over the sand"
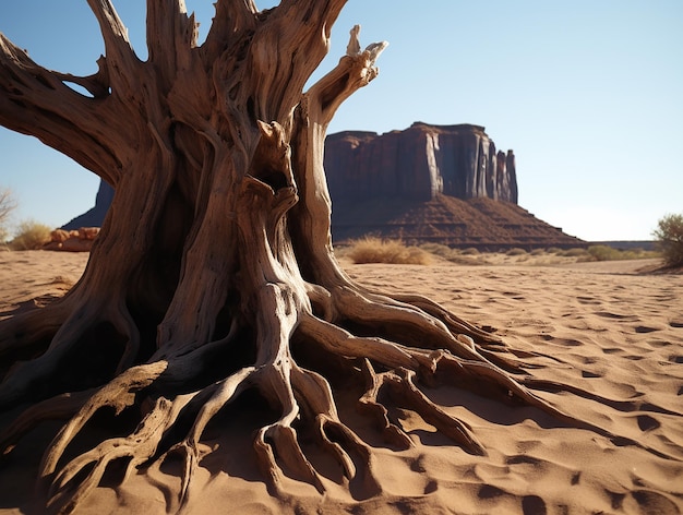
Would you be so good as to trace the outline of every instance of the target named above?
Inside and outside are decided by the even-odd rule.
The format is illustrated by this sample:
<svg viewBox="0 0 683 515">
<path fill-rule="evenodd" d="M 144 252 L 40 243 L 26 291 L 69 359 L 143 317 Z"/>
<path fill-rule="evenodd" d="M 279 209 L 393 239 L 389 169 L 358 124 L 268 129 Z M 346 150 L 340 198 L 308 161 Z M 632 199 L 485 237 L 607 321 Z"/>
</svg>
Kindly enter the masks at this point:
<svg viewBox="0 0 683 515">
<path fill-rule="evenodd" d="M 320 289 L 316 289 L 317 294 Z M 345 295 L 350 294 L 347 291 Z M 317 438 L 321 447 L 340 465 L 344 476 L 357 484 L 362 495 L 380 493 L 382 489 L 373 472 L 372 450 L 339 419 L 329 381 L 320 372 L 299 367 L 291 356 L 289 342 L 299 338 L 317 345 L 326 355 L 346 360 L 349 371 L 366 383 L 359 409 L 376 421 L 387 444 L 398 448 L 412 446 L 414 442 L 400 423 L 390 416 L 391 406 L 414 410 L 465 452 L 486 455 L 486 448 L 476 439 L 472 428 L 434 404 L 420 386 L 420 383 L 434 384 L 438 378 L 444 378 L 458 386 L 504 402 L 534 406 L 561 424 L 594 431 L 616 444 L 636 445 L 668 458 L 660 451 L 565 414 L 540 398 L 532 390 L 570 391 L 626 411 L 647 407 L 636 406 L 633 402 L 610 402 L 577 387 L 540 381 L 529 375 L 515 379 L 488 360 L 482 354 L 484 347 L 479 343 L 469 336 L 453 334 L 446 325 L 450 319 L 444 322 L 435 318 L 434 314 L 442 313 L 432 304 L 427 306 L 434 314 L 412 311 L 396 302 L 380 304 L 378 299 L 386 299 L 384 297 L 364 300 L 362 316 L 355 324 L 362 322 L 367 326 L 370 320 L 368 313 L 376 316 L 374 320 L 381 323 L 384 337 L 371 337 L 356 336 L 339 325 L 314 316 L 305 304 L 296 301 L 297 296 L 292 296 L 291 290 L 284 285 L 266 286 L 261 299 L 264 309 L 260 314 L 263 319 L 260 327 L 263 327 L 263 332 L 259 336 L 260 350 L 252 366 L 241 368 L 226 379 L 195 392 L 179 393 L 170 398 L 157 396 L 155 392 L 161 391 L 165 384 L 180 385 L 191 375 L 201 373 L 196 364 L 209 354 L 207 348 L 132 367 L 96 392 L 63 394 L 26 410 L 5 430 L 1 440 L 3 452 L 11 452 L 21 434 L 41 420 L 67 417 L 69 421 L 55 438 L 40 467 L 40 475 L 49 484 L 48 507 L 51 511 L 71 513 L 100 483 L 108 466 L 115 462 L 125 460 L 124 480 L 143 465 L 158 466 L 169 455 L 180 455 L 184 464 L 177 499 L 177 506 L 182 511 L 191 499 L 192 477 L 201 460 L 212 452 L 202 443 L 206 426 L 244 391 L 256 388 L 279 412 L 277 420 L 257 430 L 254 438 L 255 458 L 274 494 L 284 493 L 284 477 L 310 483 L 321 493 L 326 490 L 325 483 L 329 479 L 320 475 L 299 443 L 298 431 L 304 427 Z M 349 310 L 336 311 L 351 314 Z M 354 314 L 358 313 L 356 311 Z M 419 327 L 423 327 L 424 334 L 431 336 L 426 338 L 428 345 L 415 345 L 415 338 L 405 334 L 417 333 Z M 387 339 L 386 333 L 392 331 L 398 331 L 400 339 L 407 339 L 410 344 Z M 432 348 L 434 340 L 441 347 Z M 231 336 L 213 345 L 223 347 L 236 344 L 237 339 Z M 512 358 L 508 360 L 513 361 Z M 516 370 L 523 370 L 523 362 L 515 363 Z M 149 408 L 141 411 L 141 422 L 133 432 L 127 436 L 105 440 L 91 451 L 60 465 L 69 444 L 99 409 L 109 407 L 116 414 L 134 405 L 140 405 L 142 409 L 143 399 L 149 397 L 154 400 Z M 189 429 L 182 430 L 187 424 L 178 426 L 179 420 L 188 416 L 194 421 Z M 159 447 L 171 431 L 177 432 L 178 429 L 184 432 L 184 436 L 170 446 Z"/>
</svg>

